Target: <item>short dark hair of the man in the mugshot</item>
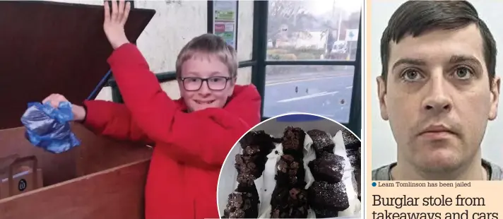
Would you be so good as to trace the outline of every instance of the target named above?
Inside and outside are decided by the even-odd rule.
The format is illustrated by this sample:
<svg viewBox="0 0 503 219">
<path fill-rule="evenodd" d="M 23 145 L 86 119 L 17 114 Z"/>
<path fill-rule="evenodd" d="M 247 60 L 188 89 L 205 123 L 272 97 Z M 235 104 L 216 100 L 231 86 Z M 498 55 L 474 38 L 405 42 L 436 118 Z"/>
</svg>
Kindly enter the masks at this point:
<svg viewBox="0 0 503 219">
<path fill-rule="evenodd" d="M 406 1 L 396 9 L 381 37 L 381 76 L 384 81 L 388 74 L 390 42 L 398 43 L 407 35 L 418 37 L 431 30 L 465 28 L 473 23 L 482 35 L 485 64 L 492 81 L 496 71 L 496 42 L 468 1 Z"/>
</svg>

